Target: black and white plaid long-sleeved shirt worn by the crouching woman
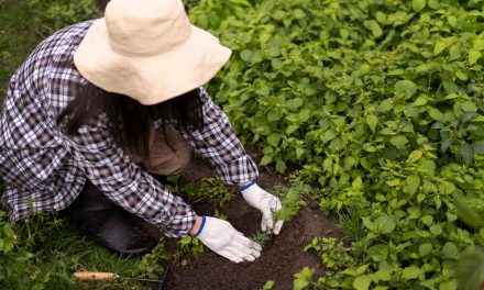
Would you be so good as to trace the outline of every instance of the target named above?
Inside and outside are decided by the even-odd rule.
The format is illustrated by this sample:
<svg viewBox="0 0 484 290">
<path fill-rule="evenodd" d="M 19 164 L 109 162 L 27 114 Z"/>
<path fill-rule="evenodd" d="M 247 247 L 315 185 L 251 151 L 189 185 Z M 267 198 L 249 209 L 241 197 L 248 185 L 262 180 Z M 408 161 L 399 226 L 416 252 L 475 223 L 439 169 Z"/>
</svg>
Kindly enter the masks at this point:
<svg viewBox="0 0 484 290">
<path fill-rule="evenodd" d="M 195 212 L 163 188 L 118 146 L 101 114 L 67 136 L 56 118 L 87 82 L 73 55 L 92 21 L 66 27 L 42 42 L 12 76 L 0 120 L 0 203 L 14 220 L 31 212 L 58 211 L 79 194 L 88 178 L 114 203 L 178 237 Z M 226 114 L 201 89 L 205 127 L 183 134 L 208 158 L 227 185 L 257 177 L 254 161 L 234 135 Z"/>
</svg>

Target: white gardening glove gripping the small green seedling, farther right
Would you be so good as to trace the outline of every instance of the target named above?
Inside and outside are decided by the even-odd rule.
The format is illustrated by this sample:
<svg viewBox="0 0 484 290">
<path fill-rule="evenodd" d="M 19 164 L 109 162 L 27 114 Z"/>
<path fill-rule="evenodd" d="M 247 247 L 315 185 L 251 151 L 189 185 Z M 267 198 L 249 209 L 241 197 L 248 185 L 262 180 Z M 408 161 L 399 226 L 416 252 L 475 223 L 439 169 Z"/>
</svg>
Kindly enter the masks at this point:
<svg viewBox="0 0 484 290">
<path fill-rule="evenodd" d="M 278 235 L 284 221 L 277 221 L 274 225 L 273 213 L 282 209 L 280 200 L 260 188 L 255 181 L 251 181 L 250 183 L 240 187 L 239 190 L 242 192 L 242 196 L 249 204 L 262 212 L 262 231 L 266 232 L 270 230 Z"/>
</svg>

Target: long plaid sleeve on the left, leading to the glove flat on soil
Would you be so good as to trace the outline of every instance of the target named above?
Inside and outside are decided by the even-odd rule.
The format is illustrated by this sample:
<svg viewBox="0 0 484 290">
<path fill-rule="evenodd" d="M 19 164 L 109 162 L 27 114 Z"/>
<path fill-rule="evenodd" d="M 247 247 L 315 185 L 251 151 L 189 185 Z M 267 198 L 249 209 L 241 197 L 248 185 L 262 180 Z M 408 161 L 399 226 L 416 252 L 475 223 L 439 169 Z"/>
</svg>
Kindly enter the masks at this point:
<svg viewBox="0 0 484 290">
<path fill-rule="evenodd" d="M 195 212 L 182 198 L 130 161 L 102 125 L 84 125 L 72 137 L 72 155 L 87 178 L 127 211 L 160 226 L 166 236 L 186 236 Z"/>
</svg>

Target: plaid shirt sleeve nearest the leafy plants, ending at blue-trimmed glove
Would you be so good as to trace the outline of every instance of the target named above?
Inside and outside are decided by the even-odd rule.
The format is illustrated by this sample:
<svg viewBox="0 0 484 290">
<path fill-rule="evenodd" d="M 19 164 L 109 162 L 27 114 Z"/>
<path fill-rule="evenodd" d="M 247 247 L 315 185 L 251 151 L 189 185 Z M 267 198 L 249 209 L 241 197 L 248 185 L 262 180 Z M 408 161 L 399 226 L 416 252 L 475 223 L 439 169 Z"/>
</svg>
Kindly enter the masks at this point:
<svg viewBox="0 0 484 290">
<path fill-rule="evenodd" d="M 245 153 L 227 115 L 204 88 L 200 88 L 200 99 L 205 126 L 193 136 L 184 133 L 184 137 L 196 153 L 210 160 L 226 185 L 257 178 L 257 166 Z"/>
</svg>

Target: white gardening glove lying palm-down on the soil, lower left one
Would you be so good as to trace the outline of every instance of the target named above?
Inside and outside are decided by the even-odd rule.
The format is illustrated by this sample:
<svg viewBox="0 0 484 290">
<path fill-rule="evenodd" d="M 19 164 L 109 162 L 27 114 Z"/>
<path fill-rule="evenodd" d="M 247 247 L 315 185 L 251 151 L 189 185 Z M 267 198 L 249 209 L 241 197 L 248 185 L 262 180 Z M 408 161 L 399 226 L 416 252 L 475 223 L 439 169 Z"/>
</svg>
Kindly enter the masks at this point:
<svg viewBox="0 0 484 290">
<path fill-rule="evenodd" d="M 204 215 L 195 236 L 208 248 L 234 263 L 253 261 L 261 256 L 261 245 L 220 219 Z"/>
</svg>

